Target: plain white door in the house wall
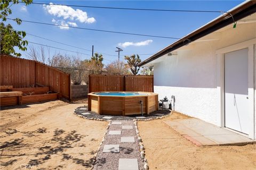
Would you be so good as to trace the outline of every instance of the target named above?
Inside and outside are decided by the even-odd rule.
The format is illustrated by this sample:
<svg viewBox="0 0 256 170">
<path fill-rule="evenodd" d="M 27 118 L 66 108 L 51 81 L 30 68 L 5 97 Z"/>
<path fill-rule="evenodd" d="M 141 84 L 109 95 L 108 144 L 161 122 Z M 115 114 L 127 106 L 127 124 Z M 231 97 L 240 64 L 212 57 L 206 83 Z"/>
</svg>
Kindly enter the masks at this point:
<svg viewBox="0 0 256 170">
<path fill-rule="evenodd" d="M 225 54 L 225 126 L 249 133 L 248 48 Z"/>
</svg>

